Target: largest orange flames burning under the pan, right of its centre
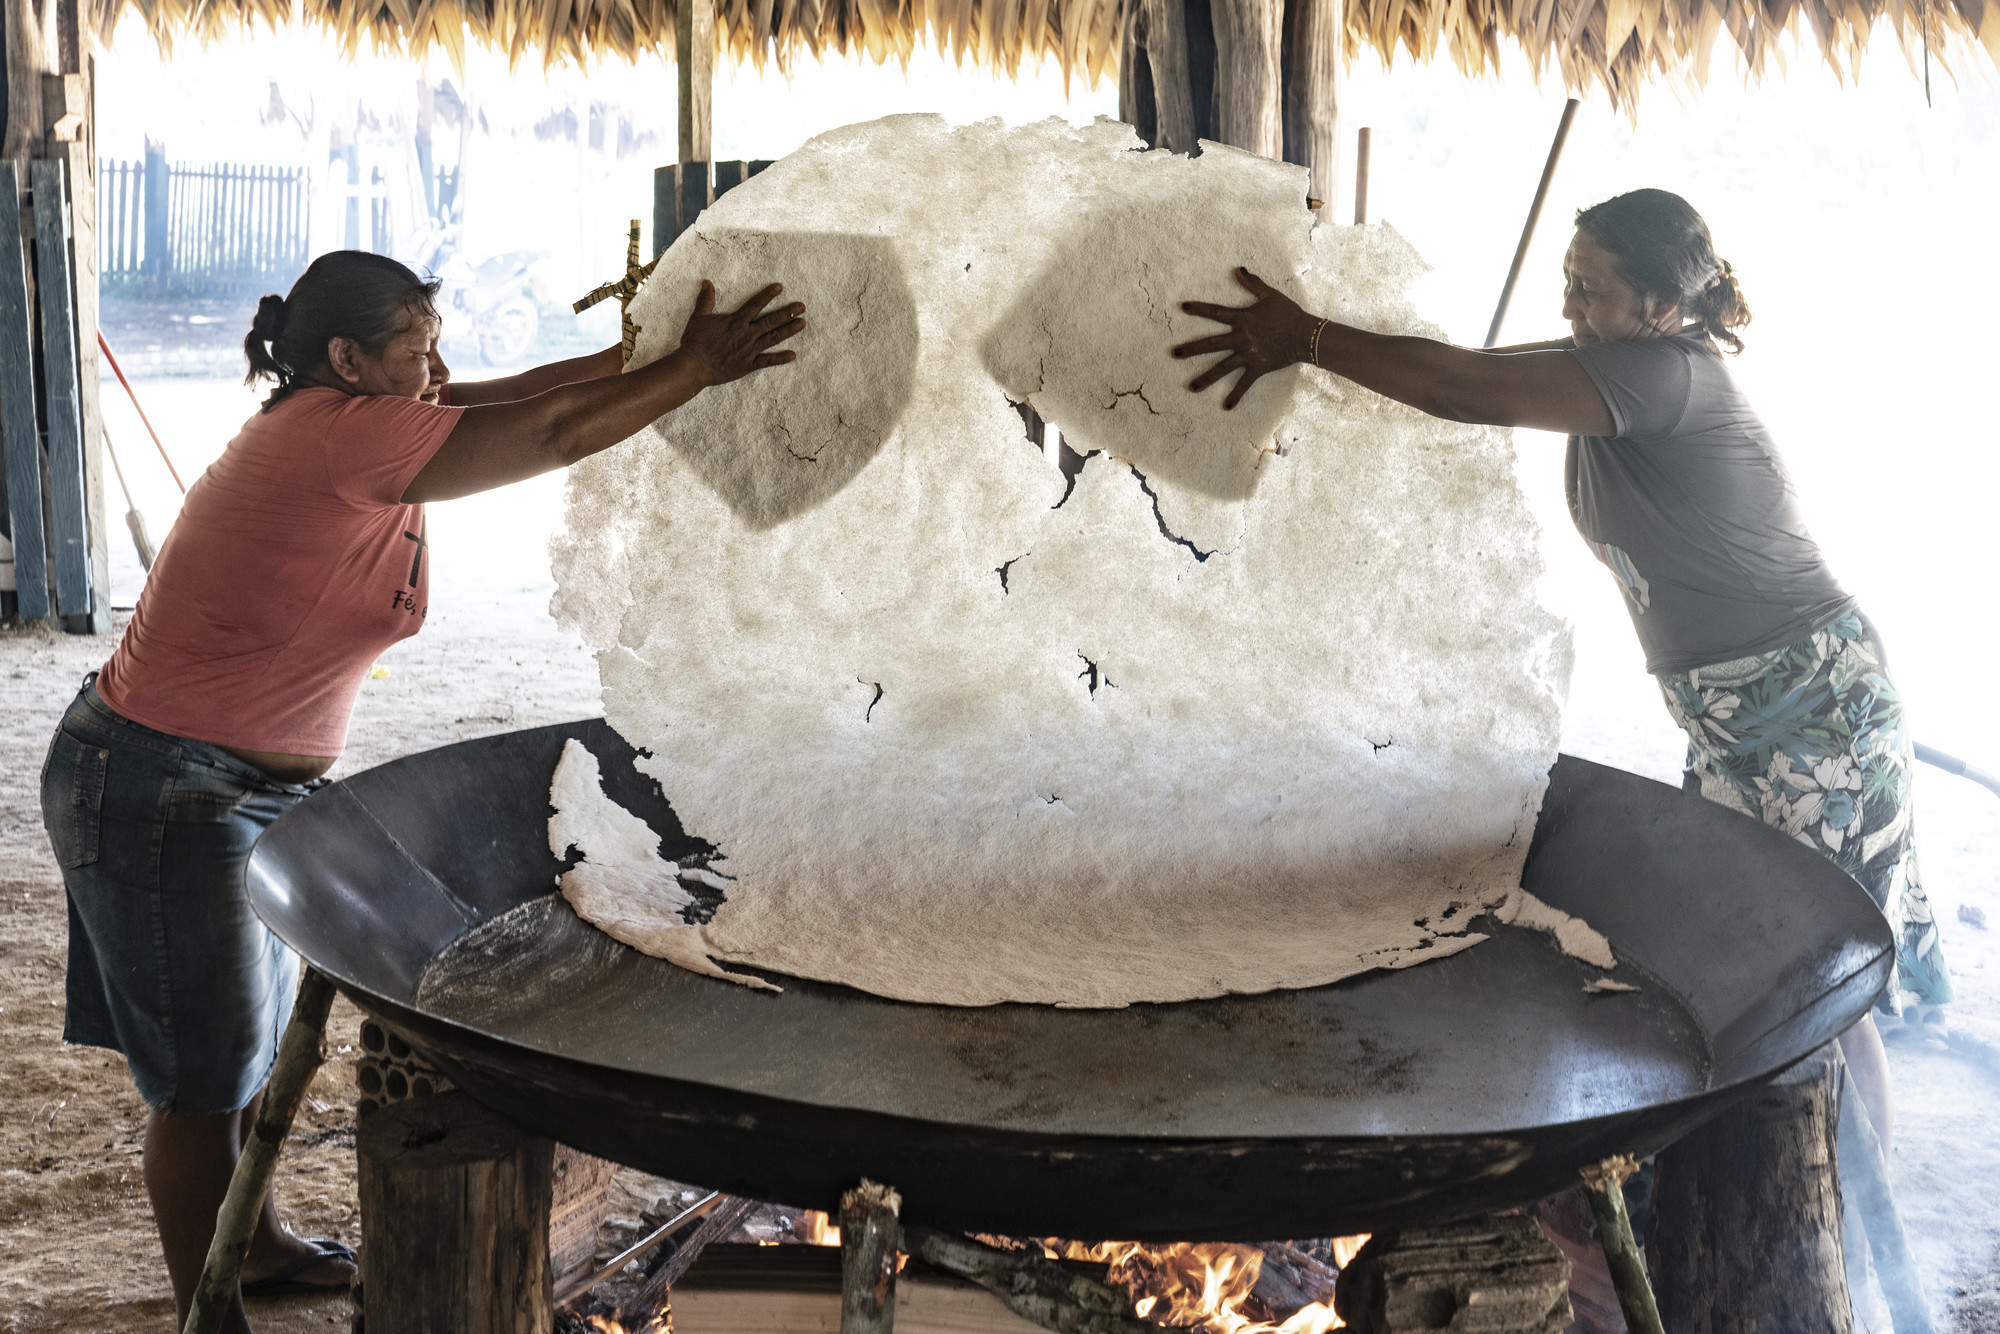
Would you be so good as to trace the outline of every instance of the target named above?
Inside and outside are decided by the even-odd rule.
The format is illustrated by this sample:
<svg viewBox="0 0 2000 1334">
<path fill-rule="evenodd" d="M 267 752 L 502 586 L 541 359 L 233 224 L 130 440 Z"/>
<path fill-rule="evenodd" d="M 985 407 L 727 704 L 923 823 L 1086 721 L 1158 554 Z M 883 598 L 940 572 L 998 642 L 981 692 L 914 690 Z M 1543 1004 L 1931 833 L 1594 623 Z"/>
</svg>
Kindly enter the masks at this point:
<svg viewBox="0 0 2000 1334">
<path fill-rule="evenodd" d="M 1334 1240 L 1334 1260 L 1344 1266 L 1366 1244 L 1366 1236 Z M 1330 1302 L 1314 1302 L 1286 1316 L 1282 1324 L 1244 1314 L 1250 1290 L 1264 1272 L 1264 1252 L 1226 1242 L 1062 1242 L 1048 1238 L 1042 1250 L 1052 1260 L 1094 1260 L 1110 1264 L 1110 1280 L 1136 1300 L 1132 1314 L 1158 1324 L 1198 1328 L 1210 1334 L 1328 1334 L 1342 1328 Z"/>
</svg>

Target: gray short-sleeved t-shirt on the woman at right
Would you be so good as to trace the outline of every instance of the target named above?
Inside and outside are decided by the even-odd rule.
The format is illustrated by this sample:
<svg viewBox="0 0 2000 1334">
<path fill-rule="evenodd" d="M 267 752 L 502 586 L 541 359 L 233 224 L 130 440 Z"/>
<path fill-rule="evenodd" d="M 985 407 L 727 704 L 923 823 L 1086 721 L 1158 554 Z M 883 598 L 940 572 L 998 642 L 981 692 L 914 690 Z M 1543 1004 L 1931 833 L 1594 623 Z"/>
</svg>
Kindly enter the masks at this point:
<svg viewBox="0 0 2000 1334">
<path fill-rule="evenodd" d="M 1648 672 L 1784 648 L 1854 608 L 1700 328 L 1572 356 L 1618 434 L 1570 436 L 1570 518 L 1618 578 Z"/>
</svg>

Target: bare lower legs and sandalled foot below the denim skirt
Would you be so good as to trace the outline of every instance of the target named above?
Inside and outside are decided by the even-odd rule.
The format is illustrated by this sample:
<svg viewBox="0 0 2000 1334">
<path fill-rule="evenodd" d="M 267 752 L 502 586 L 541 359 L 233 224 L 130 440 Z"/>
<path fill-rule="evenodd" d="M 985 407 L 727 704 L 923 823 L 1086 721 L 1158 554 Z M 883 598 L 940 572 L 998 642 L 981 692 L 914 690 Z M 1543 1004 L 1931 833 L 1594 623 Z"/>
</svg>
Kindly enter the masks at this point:
<svg viewBox="0 0 2000 1334">
<path fill-rule="evenodd" d="M 236 1154 L 242 1152 L 244 1136 L 256 1120 L 258 1102 L 260 1098 L 252 1098 L 242 1112 L 214 1116 L 152 1112 L 146 1120 L 146 1194 L 152 1200 L 154 1226 L 160 1230 L 160 1248 L 166 1252 L 166 1272 L 174 1284 L 176 1328 L 188 1320 L 194 1286 L 208 1262 L 208 1242 L 216 1234 L 216 1210 L 228 1194 Z M 262 1278 L 310 1252 L 304 1240 L 278 1222 L 278 1204 L 266 1194 L 244 1260 L 244 1278 Z M 300 1274 L 310 1282 L 334 1284 L 352 1276 L 354 1266 L 346 1260 L 326 1260 Z M 222 1330 L 250 1334 L 240 1302 L 232 1302 Z"/>
</svg>

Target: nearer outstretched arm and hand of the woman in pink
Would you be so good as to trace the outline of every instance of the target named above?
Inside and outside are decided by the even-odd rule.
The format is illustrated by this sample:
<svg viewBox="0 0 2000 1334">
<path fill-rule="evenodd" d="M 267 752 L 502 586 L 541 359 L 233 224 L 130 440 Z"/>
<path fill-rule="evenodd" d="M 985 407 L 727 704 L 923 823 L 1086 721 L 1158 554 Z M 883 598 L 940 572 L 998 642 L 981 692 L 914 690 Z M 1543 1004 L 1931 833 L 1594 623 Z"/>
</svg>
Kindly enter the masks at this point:
<svg viewBox="0 0 2000 1334">
<path fill-rule="evenodd" d="M 658 362 L 622 376 L 562 384 L 534 398 L 466 408 L 404 490 L 404 504 L 454 500 L 568 468 L 704 388 L 796 360 L 796 352 L 772 352 L 806 328 L 806 308 L 798 302 L 764 310 L 782 290 L 774 282 L 736 310 L 716 314 L 716 288 L 704 280 L 680 346 Z"/>
</svg>

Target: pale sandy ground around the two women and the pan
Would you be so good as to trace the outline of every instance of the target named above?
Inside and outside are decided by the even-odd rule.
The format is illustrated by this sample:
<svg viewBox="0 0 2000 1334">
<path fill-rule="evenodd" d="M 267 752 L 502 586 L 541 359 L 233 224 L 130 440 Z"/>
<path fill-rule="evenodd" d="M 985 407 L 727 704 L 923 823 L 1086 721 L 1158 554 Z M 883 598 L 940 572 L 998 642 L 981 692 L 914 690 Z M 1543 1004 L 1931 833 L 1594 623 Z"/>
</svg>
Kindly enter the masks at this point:
<svg viewBox="0 0 2000 1334">
<path fill-rule="evenodd" d="M 250 408 L 226 382 L 142 382 L 146 408 L 192 478 Z M 126 472 L 154 536 L 176 494 L 136 418 L 110 404 Z M 1602 572 L 1568 540 L 1560 454 L 1522 436 L 1522 480 L 1550 526 L 1548 594 L 1578 624 L 1564 748 L 1676 780 L 1678 732 L 1644 676 Z M 118 508 L 118 500 L 112 500 Z M 422 636 L 384 656 L 362 692 L 336 776 L 468 736 L 598 712 L 596 674 L 546 616 L 542 550 L 560 484 L 538 480 L 432 508 L 432 610 Z M 122 536 L 122 534 L 120 534 Z M 1578 550 L 1572 550 L 1578 548 Z M 130 544 L 114 542 L 114 600 L 138 590 Z M 66 918 L 38 810 L 48 734 L 108 640 L 0 632 L 0 1334 L 168 1330 L 164 1270 L 138 1176 L 142 1108 L 122 1060 L 62 1048 Z M 1938 738 L 1938 744 L 1944 744 Z M 2000 756 L 1970 756 L 2000 768 Z M 2000 1036 L 2000 798 L 1968 782 L 1918 778 L 1924 874 L 1958 980 L 1954 1022 Z M 1958 920 L 1982 908 L 1994 930 Z M 344 1002 L 308 1114 L 286 1150 L 280 1204 L 294 1228 L 356 1240 L 352 1044 Z M 1894 1178 L 1940 1330 L 2000 1334 L 2000 1070 L 1922 1038 L 1892 1044 Z M 1864 1296 L 1864 1312 L 1880 1306 Z M 342 1300 L 266 1302 L 260 1330 L 346 1326 Z"/>
</svg>

